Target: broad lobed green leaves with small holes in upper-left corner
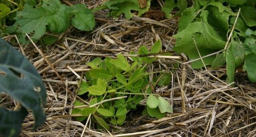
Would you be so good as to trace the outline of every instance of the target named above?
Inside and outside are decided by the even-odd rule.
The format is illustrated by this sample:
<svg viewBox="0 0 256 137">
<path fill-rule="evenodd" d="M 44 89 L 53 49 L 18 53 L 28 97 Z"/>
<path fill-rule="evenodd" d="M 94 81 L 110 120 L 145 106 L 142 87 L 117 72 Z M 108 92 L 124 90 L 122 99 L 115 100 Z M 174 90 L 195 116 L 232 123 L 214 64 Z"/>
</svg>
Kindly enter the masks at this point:
<svg viewBox="0 0 256 137">
<path fill-rule="evenodd" d="M 7 7 L 5 4 L 2 6 Z M 1 10 L 9 14 L 8 7 Z M 61 4 L 59 0 L 41 0 L 39 5 L 36 0 L 26 0 L 24 9 L 18 11 L 14 18 L 15 23 L 6 29 L 6 33 L 15 34 L 20 43 L 28 43 L 26 34 L 30 34 L 32 40 L 37 41 L 46 31 L 52 33 L 62 33 L 68 29 L 70 22 L 79 30 L 89 31 L 95 26 L 93 12 L 86 8 L 84 4 L 67 6 Z M 53 44 L 57 38 L 44 37 L 45 44 Z"/>
</svg>

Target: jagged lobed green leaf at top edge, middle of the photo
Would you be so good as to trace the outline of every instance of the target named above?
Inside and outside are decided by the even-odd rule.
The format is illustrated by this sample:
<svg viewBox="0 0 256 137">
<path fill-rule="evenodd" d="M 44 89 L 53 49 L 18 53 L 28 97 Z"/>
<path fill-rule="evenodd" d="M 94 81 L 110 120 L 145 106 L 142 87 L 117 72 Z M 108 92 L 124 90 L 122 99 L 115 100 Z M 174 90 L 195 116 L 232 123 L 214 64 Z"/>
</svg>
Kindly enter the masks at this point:
<svg viewBox="0 0 256 137">
<path fill-rule="evenodd" d="M 106 5 L 108 9 L 111 9 L 111 16 L 117 17 L 124 13 L 126 19 L 130 19 L 135 16 L 131 11 L 138 11 L 138 17 L 148 11 L 150 8 L 150 1 L 151 0 L 147 0 L 146 7 L 142 9 L 139 7 L 138 0 L 109 0 L 105 2 L 104 5 Z"/>
</svg>

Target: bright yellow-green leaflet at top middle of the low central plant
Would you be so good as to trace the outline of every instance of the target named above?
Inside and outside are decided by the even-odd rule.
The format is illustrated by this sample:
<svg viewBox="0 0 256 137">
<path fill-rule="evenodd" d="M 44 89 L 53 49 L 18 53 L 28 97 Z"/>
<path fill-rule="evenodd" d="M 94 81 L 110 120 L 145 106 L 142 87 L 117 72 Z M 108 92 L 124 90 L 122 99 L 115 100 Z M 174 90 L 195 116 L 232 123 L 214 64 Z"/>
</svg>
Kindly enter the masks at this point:
<svg viewBox="0 0 256 137">
<path fill-rule="evenodd" d="M 118 59 L 111 59 L 109 62 L 123 71 L 129 71 L 130 64 L 123 55 L 117 55 Z"/>
</svg>

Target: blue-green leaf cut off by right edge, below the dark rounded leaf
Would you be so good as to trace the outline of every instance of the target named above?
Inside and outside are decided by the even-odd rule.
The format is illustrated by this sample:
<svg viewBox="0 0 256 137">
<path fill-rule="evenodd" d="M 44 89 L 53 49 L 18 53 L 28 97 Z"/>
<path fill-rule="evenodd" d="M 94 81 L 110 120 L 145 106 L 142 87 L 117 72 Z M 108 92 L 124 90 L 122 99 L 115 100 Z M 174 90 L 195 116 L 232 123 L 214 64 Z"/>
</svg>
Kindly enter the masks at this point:
<svg viewBox="0 0 256 137">
<path fill-rule="evenodd" d="M 247 71 L 249 80 L 256 82 L 256 31 L 246 30 L 245 64 L 244 70 Z"/>
</svg>

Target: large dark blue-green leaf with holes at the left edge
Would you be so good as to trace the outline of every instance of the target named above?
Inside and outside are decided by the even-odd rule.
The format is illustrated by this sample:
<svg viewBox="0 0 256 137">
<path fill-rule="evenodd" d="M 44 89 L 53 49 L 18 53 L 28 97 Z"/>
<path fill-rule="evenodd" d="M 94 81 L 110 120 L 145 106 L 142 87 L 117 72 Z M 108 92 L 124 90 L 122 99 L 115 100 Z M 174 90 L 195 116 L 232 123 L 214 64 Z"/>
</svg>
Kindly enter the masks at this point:
<svg viewBox="0 0 256 137">
<path fill-rule="evenodd" d="M 45 105 L 46 91 L 39 73 L 28 59 L 7 42 L 0 39 L 0 93 L 2 92 L 18 100 L 27 110 L 31 110 L 35 119 L 34 129 L 45 121 L 42 107 Z M 4 112 L 1 109 L 0 113 L 8 114 L 10 112 Z M 20 113 L 19 119 L 23 119 L 23 111 L 14 113 L 11 115 L 14 116 Z M 6 122 L 4 125 L 1 123 L 0 131 L 6 127 L 12 127 L 8 128 L 9 131 L 20 130 L 19 126 L 17 126 L 20 125 L 18 121 L 17 125 L 12 125 L 14 123 L 13 120 L 16 120 L 16 118 L 4 115 L 1 115 L 1 117 L 6 117 L 5 120 L 10 123 Z"/>
</svg>

